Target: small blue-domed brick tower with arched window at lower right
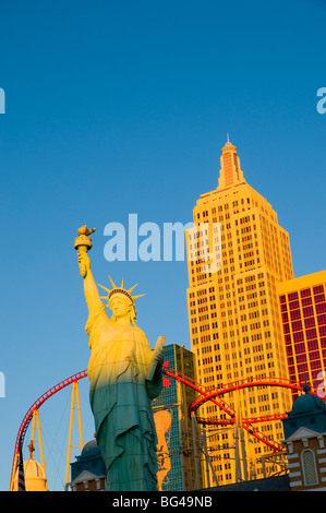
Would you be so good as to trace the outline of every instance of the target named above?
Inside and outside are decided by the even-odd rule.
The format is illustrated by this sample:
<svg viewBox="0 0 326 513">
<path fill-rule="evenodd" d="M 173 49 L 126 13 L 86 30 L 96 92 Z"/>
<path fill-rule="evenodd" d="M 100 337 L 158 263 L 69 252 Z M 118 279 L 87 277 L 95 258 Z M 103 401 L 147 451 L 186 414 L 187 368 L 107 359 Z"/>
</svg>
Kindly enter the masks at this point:
<svg viewBox="0 0 326 513">
<path fill-rule="evenodd" d="M 306 385 L 282 420 L 290 487 L 326 490 L 326 404 Z"/>
</svg>

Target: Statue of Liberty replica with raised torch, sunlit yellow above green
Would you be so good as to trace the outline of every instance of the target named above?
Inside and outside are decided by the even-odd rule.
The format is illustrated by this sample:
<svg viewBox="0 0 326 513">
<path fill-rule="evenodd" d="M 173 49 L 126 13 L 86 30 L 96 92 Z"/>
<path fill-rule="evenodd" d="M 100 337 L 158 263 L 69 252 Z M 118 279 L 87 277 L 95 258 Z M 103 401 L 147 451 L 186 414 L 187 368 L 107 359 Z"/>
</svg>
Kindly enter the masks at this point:
<svg viewBox="0 0 326 513">
<path fill-rule="evenodd" d="M 88 307 L 89 401 L 107 469 L 107 490 L 156 491 L 157 436 L 152 401 L 162 386 L 165 338 L 159 337 L 152 350 L 136 326 L 135 299 L 141 296 L 132 296 L 135 286 L 126 290 L 124 279 L 117 287 L 110 278 L 112 289 L 100 285 L 107 295 L 99 296 L 87 254 L 93 231 L 87 226 L 80 228 L 74 247 Z"/>
</svg>

